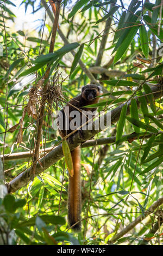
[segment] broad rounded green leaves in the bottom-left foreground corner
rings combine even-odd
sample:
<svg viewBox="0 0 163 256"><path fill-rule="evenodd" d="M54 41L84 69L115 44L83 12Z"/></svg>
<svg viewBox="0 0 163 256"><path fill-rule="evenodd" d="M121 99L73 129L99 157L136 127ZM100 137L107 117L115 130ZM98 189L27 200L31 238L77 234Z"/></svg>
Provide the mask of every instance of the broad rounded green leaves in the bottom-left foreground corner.
<svg viewBox="0 0 163 256"><path fill-rule="evenodd" d="M4 225L4 235L5 233L10 234L14 230L10 244L16 244L20 239L21 244L25 245L55 245L61 241L71 242L72 245L79 244L77 239L65 232L60 231L53 236L48 234L56 225L65 224L65 219L60 216L37 215L32 218L24 218L24 211L18 212L18 209L26 205L26 203L24 199L15 200L13 195L6 195L3 200L0 200L1 223ZM34 231L30 230L31 227L35 228ZM31 239L31 237L33 238Z"/></svg>

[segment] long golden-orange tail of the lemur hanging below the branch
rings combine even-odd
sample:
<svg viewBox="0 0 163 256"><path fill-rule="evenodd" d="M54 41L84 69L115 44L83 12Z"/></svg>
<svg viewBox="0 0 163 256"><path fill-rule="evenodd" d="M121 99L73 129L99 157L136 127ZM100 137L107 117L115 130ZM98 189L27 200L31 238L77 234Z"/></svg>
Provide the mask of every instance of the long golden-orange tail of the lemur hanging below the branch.
<svg viewBox="0 0 163 256"><path fill-rule="evenodd" d="M80 185L80 147L71 151L74 174L69 175L68 188L68 222L70 226L80 221L81 212L81 185ZM72 227L74 232L81 229L81 223L77 223Z"/></svg>

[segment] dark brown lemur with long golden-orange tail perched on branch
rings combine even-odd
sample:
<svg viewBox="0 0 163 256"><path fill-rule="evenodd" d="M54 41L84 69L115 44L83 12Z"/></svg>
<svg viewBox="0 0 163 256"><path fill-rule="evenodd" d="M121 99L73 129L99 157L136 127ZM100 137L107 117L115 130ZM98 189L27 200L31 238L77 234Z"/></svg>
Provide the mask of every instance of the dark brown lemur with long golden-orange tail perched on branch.
<svg viewBox="0 0 163 256"><path fill-rule="evenodd" d="M83 108L84 106L98 103L99 98L96 98L100 94L100 88L96 85L86 85L82 88L82 94L73 98L66 104L68 106L68 115L65 108L61 110L62 113L62 127L59 128L60 135L62 138L70 134L72 129L68 127L65 128L65 114L68 116L68 123L72 118L70 114L72 111L77 111L80 115L80 121L82 120L82 111L95 111L97 108ZM82 123L80 123L81 125ZM79 126L80 126L79 125ZM78 126L78 127L79 127ZM75 128L76 129L76 128ZM83 136L82 130L78 130L80 136ZM70 143L73 143L72 135L68 138ZM69 175L69 186L68 186L68 223L70 226L80 221L80 211L81 211L81 188L80 188L80 147L76 147L71 151L74 175L71 177ZM80 222L72 227L73 231L77 232L81 229Z"/></svg>

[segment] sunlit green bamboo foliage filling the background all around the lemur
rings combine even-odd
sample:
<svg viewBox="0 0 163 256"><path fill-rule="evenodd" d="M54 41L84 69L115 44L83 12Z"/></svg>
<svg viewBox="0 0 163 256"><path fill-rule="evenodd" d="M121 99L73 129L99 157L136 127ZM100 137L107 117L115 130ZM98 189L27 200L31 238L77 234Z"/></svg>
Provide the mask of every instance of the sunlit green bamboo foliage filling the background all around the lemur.
<svg viewBox="0 0 163 256"><path fill-rule="evenodd" d="M5 181L32 164L32 157L22 158L22 152L35 147L42 95L46 94L46 100L40 148L43 152L60 144L61 138L53 129L56 111L76 97L83 85L92 83L88 70L103 91L99 103L89 107L98 107L102 114L111 110L114 122L98 134L98 139L112 139L111 144L97 144L96 150L82 147L80 233L67 229L68 172L64 158L26 186L20 182L19 190L1 199L0 221L14 231L12 244L16 245L106 245L137 217L145 217L146 210L162 197L161 1L62 1L60 30L52 53L49 17L44 28L40 22L39 32L30 28L14 32L10 28L16 17L14 3L4 2L0 14L0 146L1 154L21 154L4 162ZM35 2L22 1L25 11L32 7L34 15L40 9L45 12L43 5L37 7ZM47 67L51 70L45 81ZM47 81L48 91L44 92ZM153 93L156 88L160 92ZM22 142L17 143L20 132ZM40 161L38 165L43 168ZM157 221L156 215L151 212L151 220L145 219L114 243L138 245ZM161 233L160 225L157 234ZM158 245L159 241L162 236L149 244Z"/></svg>

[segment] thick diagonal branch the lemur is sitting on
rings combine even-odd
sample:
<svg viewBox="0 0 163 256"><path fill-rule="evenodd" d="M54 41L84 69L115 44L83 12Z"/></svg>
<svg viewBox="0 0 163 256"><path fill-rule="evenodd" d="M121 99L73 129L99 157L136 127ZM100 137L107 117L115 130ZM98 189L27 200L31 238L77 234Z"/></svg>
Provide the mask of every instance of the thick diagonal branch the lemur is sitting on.
<svg viewBox="0 0 163 256"><path fill-rule="evenodd" d="M161 91L162 86L154 86L151 87L151 90L153 92L154 98L159 98L162 95ZM135 97L137 106L140 106L140 102L137 97ZM147 99L148 100L148 99ZM131 101L129 100L127 103L128 108L127 108L127 115L129 115L129 106L130 106ZM102 118L103 122L106 125L108 117L111 117L111 123L115 123L118 121L120 118L121 110L123 108L123 105L119 105L117 108L114 110L111 110L110 112L107 112ZM89 140L92 138L92 136L95 136L97 133L102 131L102 128L99 127L98 129L95 129L98 127L99 120L95 120L95 122L92 123L92 130L83 130L84 134L84 141ZM70 150L72 151L74 148L82 144L83 140L79 138L78 133L74 134L73 136L73 144L70 144ZM59 145L58 147L54 148L51 152L47 153L45 157L42 157L39 162L36 164L36 170L35 170L35 176L39 175L42 171L46 170L49 168L51 165L57 163L57 161L63 157L63 152L62 152L62 145ZM13 178L9 183L8 183L8 191L9 193L15 192L17 189L20 189L23 186L26 186L27 183L31 180L30 176L30 170L31 168L28 168L27 170L21 172L21 174L17 175L15 178Z"/></svg>

